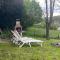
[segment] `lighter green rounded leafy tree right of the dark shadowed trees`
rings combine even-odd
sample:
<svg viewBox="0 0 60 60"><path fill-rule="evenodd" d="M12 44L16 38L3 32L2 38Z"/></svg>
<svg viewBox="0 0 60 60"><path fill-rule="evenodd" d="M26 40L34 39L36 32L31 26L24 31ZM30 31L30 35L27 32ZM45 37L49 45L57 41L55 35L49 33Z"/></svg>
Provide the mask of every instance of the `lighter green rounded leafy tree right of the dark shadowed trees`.
<svg viewBox="0 0 60 60"><path fill-rule="evenodd" d="M24 16L21 20L23 27L28 27L34 23L41 22L42 9L35 0L24 0Z"/></svg>

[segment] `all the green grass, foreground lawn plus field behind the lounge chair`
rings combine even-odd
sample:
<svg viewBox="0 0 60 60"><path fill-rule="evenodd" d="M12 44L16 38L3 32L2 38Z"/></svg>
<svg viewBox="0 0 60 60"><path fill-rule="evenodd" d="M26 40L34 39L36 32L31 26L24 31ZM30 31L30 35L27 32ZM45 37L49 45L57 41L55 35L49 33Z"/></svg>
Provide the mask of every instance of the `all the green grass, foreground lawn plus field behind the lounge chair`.
<svg viewBox="0 0 60 60"><path fill-rule="evenodd" d="M45 40L45 32L42 25L29 27L23 33L24 36L45 41L43 47L34 44L31 48L28 45L19 48L12 43L0 43L0 60L60 60L60 47L51 45L51 43L60 42L60 40ZM56 38L59 33L57 30L50 30L50 37Z"/></svg>

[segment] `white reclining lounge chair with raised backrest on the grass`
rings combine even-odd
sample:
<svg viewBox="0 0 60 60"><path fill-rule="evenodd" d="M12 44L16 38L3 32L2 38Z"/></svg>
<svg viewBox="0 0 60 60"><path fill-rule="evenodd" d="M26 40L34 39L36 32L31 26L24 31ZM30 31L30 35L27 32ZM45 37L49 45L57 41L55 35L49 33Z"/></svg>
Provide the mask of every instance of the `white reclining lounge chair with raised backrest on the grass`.
<svg viewBox="0 0 60 60"><path fill-rule="evenodd" d="M15 37L14 41L16 41L16 43L18 43L18 41L22 42L22 44L19 47L22 47L24 44L29 44L29 46L31 47L31 43L34 43L34 42L40 43L41 47L42 47L43 41L41 41L41 40L36 40L36 39L28 38L28 37L21 37L17 31L15 31L15 32L11 31L11 32L13 33L13 35Z"/></svg>

